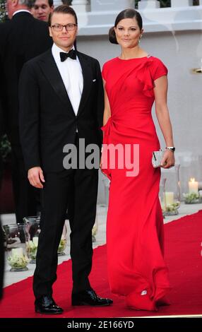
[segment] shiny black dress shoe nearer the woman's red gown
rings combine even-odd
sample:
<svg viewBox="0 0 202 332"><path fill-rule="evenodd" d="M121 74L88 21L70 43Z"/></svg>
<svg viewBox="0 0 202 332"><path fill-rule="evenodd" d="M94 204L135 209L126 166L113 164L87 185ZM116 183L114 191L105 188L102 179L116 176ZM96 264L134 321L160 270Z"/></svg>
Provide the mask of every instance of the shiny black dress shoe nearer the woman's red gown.
<svg viewBox="0 0 202 332"><path fill-rule="evenodd" d="M112 300L98 297L94 290L83 290L82 292L71 295L71 305L92 305L102 307L112 303Z"/></svg>

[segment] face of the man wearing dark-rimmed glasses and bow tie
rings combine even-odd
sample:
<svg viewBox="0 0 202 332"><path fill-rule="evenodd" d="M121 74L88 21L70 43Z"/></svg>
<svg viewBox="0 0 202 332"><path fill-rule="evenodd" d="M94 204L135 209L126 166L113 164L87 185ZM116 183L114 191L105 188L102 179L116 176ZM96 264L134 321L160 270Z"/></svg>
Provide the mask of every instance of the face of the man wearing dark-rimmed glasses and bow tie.
<svg viewBox="0 0 202 332"><path fill-rule="evenodd" d="M66 28L62 28L61 31L54 30L54 25L66 24L69 24L73 30L66 31ZM64 51L68 52L76 40L78 30L74 16L67 13L53 13L51 25L52 27L49 27L49 35L52 37L54 43Z"/></svg>

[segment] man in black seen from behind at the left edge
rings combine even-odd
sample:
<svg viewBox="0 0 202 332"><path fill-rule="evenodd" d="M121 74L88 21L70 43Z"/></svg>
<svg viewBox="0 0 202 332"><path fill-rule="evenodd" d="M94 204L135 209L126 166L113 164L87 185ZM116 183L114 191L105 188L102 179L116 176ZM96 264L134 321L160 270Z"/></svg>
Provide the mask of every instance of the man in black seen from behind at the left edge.
<svg viewBox="0 0 202 332"><path fill-rule="evenodd" d="M7 0L11 20L0 24L1 98L5 110L6 132L11 141L13 161L13 194L16 221L37 213L37 189L28 182L18 126L18 78L26 61L52 46L48 25L32 17L30 0ZM38 193L39 194L39 193ZM37 198L37 199L36 199Z"/></svg>

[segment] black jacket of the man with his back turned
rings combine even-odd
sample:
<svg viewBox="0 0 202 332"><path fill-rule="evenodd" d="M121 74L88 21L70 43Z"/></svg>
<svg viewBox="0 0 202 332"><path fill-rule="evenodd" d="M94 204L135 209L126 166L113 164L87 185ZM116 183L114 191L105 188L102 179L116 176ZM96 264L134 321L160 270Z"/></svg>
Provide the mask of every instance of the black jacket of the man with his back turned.
<svg viewBox="0 0 202 332"><path fill-rule="evenodd" d="M28 12L16 13L0 24L1 100L6 111L7 131L18 141L18 78L26 61L52 46L48 25Z"/></svg>

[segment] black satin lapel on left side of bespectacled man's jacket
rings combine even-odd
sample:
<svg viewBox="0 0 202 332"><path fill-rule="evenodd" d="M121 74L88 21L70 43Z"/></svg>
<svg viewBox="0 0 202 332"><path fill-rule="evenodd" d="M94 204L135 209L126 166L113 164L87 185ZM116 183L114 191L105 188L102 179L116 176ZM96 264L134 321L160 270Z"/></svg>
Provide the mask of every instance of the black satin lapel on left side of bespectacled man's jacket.
<svg viewBox="0 0 202 332"><path fill-rule="evenodd" d="M69 95L66 92L61 75L57 69L57 64L55 63L54 57L52 56L51 49L46 53L46 57L41 60L40 65L44 75L47 77L49 83L51 83L52 88L54 88L54 91L57 93L66 108L70 109L71 113L75 116L71 101L69 100Z"/></svg>

